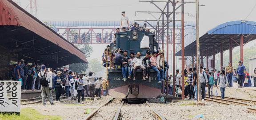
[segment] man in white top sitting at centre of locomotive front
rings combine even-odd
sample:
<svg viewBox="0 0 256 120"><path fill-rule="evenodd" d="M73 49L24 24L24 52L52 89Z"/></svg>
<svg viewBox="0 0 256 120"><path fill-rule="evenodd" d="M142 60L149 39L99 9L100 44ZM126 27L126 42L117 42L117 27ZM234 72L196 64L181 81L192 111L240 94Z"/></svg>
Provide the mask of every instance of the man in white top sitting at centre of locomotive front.
<svg viewBox="0 0 256 120"><path fill-rule="evenodd" d="M144 66L142 66L142 61L145 58L145 56L140 56L140 52L137 52L137 56L136 58L133 59L133 80L136 80L135 76L136 76L136 71L137 69L142 69L142 73L143 73L143 79L142 80L146 80L145 76L146 76L146 68Z"/></svg>

